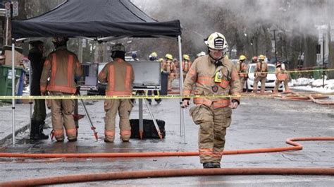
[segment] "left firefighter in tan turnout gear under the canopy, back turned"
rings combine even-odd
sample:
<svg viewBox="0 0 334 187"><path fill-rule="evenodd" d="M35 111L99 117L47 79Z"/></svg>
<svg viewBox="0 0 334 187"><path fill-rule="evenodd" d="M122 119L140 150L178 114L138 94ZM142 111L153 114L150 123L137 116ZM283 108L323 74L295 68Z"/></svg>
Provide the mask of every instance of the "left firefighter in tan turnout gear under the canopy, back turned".
<svg viewBox="0 0 334 187"><path fill-rule="evenodd" d="M78 56L68 51L67 37L54 37L52 41L56 47L44 62L40 81L42 95L49 91L49 95L75 95L77 90L75 78L82 76L82 67ZM49 78L49 82L48 82ZM53 134L57 141L64 140L63 128L69 141L77 140L77 128L73 119L75 107L74 99L50 99Z"/></svg>

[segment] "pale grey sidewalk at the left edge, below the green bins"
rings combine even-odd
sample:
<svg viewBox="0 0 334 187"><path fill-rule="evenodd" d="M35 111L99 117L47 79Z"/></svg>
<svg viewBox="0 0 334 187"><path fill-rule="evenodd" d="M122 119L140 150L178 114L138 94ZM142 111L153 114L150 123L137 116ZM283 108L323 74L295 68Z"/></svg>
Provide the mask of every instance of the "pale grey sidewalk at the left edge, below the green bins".
<svg viewBox="0 0 334 187"><path fill-rule="evenodd" d="M15 134L18 136L30 128L30 104L15 104ZM32 104L32 111L34 110ZM49 112L49 110L47 110ZM11 103L0 102L0 146L12 141L12 114ZM49 116L49 114L47 115Z"/></svg>

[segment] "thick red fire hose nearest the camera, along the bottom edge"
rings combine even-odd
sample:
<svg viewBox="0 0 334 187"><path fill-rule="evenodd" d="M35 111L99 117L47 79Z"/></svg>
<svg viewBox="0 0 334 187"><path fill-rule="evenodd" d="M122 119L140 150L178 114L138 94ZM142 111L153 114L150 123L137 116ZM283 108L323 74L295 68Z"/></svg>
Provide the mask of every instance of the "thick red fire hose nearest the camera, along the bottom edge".
<svg viewBox="0 0 334 187"><path fill-rule="evenodd" d="M77 174L66 176L8 181L0 186L42 186L60 183L83 183L116 179L143 179L175 176L212 175L334 175L334 168L223 168L223 169L164 169L151 171L119 171L99 174Z"/></svg>

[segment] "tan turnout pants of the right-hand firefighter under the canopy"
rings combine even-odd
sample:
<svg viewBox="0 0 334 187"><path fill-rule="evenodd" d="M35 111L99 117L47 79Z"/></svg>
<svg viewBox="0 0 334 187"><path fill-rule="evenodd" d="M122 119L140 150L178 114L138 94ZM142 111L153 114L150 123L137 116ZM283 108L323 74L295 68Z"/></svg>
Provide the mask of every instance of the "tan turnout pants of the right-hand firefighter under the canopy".
<svg viewBox="0 0 334 187"><path fill-rule="evenodd" d="M130 111L132 109L132 103L130 99L106 99L104 101L104 111L106 111L106 117L104 119L104 135L105 139L113 142L115 140L115 123L116 114L120 116L120 138L123 141L128 141L131 135L130 126Z"/></svg>

